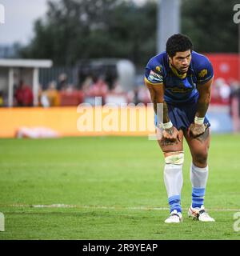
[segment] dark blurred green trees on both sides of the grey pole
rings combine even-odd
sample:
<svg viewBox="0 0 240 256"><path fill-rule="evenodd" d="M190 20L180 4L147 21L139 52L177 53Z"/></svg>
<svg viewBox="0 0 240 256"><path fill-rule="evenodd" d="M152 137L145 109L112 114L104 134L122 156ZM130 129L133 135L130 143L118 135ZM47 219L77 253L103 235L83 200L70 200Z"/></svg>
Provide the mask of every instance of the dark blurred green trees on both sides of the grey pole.
<svg viewBox="0 0 240 256"><path fill-rule="evenodd" d="M129 58L145 66L156 53L157 0L50 0L45 18L34 24L34 38L22 58L51 58L74 65L82 58ZM182 33L199 52L237 52L234 0L182 0Z"/></svg>

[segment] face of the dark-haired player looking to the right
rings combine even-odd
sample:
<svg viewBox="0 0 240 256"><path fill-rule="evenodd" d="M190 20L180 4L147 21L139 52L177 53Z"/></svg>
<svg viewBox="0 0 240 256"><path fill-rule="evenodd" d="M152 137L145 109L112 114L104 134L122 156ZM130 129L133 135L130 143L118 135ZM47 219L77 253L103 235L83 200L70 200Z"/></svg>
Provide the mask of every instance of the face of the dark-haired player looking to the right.
<svg viewBox="0 0 240 256"><path fill-rule="evenodd" d="M179 73L186 73L190 66L191 57L190 50L178 51L173 58L170 58L170 62Z"/></svg>

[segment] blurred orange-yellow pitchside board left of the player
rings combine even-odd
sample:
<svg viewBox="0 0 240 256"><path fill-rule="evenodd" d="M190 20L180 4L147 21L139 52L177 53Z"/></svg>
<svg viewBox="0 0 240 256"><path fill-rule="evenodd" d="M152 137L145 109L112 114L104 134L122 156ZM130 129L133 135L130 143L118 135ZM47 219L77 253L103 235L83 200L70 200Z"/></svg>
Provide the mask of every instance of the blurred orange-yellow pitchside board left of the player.
<svg viewBox="0 0 240 256"><path fill-rule="evenodd" d="M17 137L22 127L43 127L59 136L141 136L154 132L152 106L0 108L0 120L0 138Z"/></svg>

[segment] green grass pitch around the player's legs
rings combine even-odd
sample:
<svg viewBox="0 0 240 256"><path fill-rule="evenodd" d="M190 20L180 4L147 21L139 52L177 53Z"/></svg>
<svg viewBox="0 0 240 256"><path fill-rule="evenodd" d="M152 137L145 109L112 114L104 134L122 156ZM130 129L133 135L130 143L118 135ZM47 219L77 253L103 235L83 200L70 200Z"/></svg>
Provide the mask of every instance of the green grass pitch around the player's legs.
<svg viewBox="0 0 240 256"><path fill-rule="evenodd" d="M166 224L164 161L157 142L144 137L1 139L0 212L6 231L0 240L239 239L234 213L240 211L240 135L212 136L205 206L214 223L186 216L191 200L186 144L185 156L184 219Z"/></svg>

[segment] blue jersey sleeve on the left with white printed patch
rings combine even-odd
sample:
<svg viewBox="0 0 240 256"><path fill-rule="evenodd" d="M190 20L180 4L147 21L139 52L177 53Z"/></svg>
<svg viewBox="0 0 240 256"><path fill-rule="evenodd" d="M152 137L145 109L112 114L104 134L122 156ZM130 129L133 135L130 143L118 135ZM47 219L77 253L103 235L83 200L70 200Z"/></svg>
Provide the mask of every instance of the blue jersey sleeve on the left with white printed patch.
<svg viewBox="0 0 240 256"><path fill-rule="evenodd" d="M162 84L163 82L162 65L154 64L154 61L150 60L150 62L148 62L146 65L145 80L146 82L152 85Z"/></svg>

